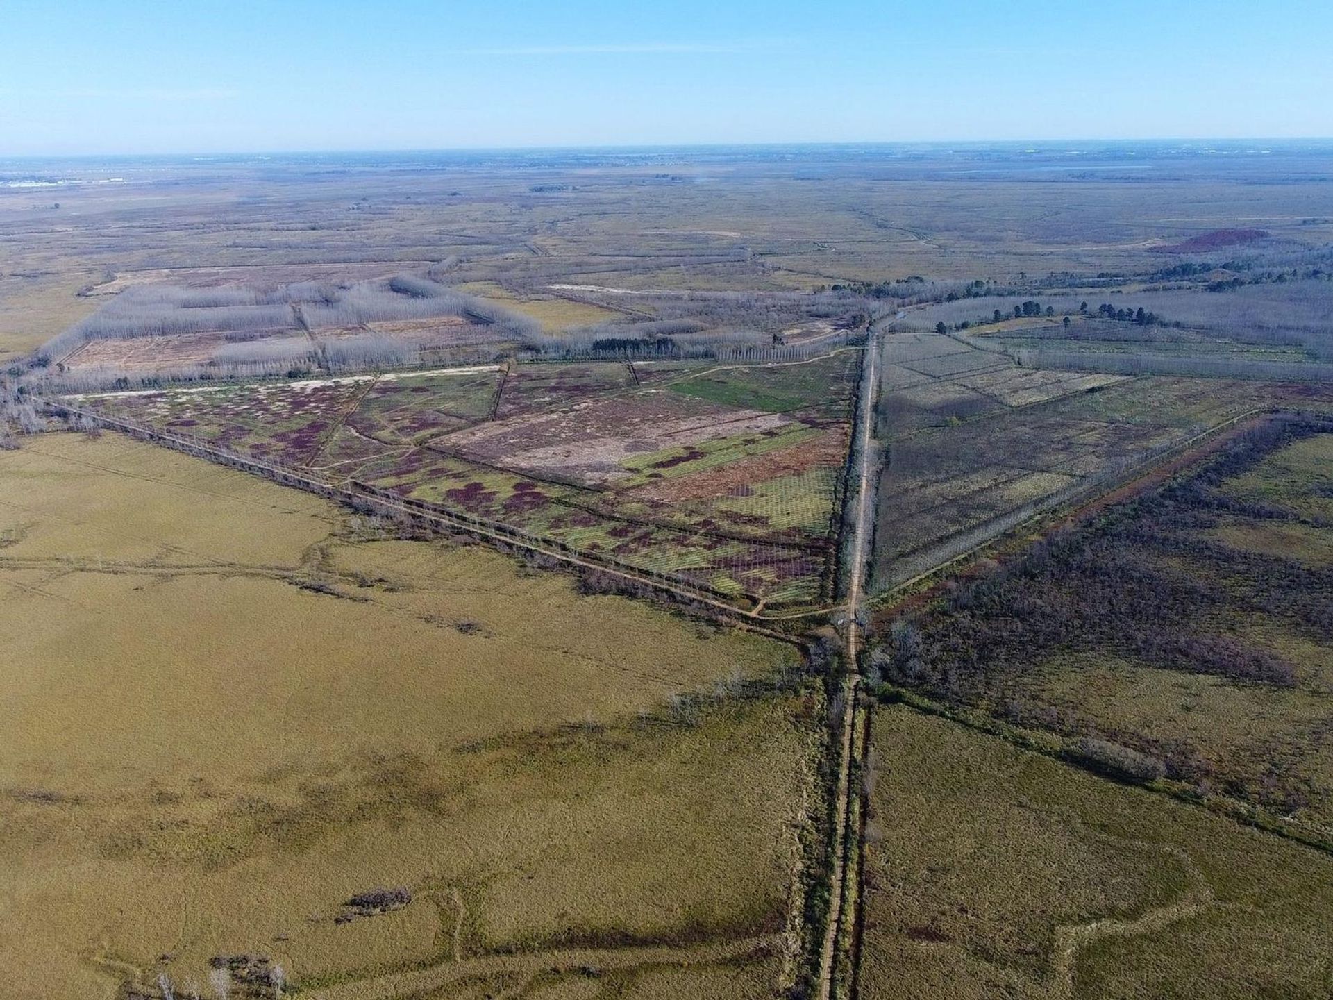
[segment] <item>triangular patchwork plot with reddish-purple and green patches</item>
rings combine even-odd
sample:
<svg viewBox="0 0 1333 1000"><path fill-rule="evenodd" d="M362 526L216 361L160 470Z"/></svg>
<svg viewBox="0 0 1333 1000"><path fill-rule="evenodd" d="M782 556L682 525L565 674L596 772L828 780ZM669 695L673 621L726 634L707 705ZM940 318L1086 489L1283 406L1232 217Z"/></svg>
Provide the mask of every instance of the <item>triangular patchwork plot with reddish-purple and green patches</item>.
<svg viewBox="0 0 1333 1000"><path fill-rule="evenodd" d="M826 595L856 351L524 364L72 401L745 603Z"/></svg>

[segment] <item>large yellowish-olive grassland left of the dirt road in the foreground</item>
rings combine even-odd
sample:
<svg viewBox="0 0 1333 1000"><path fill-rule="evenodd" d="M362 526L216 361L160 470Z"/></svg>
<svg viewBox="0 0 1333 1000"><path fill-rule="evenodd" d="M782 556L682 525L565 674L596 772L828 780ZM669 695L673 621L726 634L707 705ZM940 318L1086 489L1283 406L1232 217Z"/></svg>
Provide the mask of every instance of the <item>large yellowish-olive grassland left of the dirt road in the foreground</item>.
<svg viewBox="0 0 1333 1000"><path fill-rule="evenodd" d="M782 644L115 435L0 453L0 591L5 996L792 975Z"/></svg>

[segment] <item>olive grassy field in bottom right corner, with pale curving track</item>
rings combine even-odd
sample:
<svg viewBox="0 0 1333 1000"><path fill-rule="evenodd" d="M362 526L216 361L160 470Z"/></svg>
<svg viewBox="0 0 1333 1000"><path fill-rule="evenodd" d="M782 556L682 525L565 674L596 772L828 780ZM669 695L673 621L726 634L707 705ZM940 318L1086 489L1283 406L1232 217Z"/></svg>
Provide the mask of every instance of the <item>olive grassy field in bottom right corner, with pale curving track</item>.
<svg viewBox="0 0 1333 1000"><path fill-rule="evenodd" d="M860 995L1325 997L1333 859L876 709Z"/></svg>

